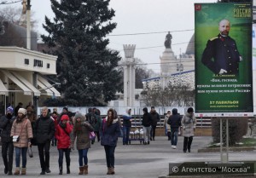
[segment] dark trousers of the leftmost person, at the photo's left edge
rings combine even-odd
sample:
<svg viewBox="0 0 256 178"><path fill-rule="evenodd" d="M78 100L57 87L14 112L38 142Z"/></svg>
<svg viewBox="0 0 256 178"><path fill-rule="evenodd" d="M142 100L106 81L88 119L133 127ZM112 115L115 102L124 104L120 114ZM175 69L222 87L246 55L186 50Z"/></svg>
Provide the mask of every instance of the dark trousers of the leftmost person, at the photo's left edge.
<svg viewBox="0 0 256 178"><path fill-rule="evenodd" d="M8 158L7 158L8 156ZM3 164L8 171L13 169L13 159L14 159L14 143L13 141L2 142L2 157Z"/></svg>

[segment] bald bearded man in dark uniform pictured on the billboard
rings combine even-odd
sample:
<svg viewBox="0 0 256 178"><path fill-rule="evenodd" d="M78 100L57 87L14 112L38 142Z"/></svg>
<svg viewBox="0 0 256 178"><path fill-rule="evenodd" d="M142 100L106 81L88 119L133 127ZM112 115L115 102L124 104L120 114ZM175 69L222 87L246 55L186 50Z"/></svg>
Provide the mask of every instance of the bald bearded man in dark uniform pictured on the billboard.
<svg viewBox="0 0 256 178"><path fill-rule="evenodd" d="M236 41L229 36L230 20L220 20L219 34L207 42L201 62L214 74L235 75L239 73L239 63L242 60L238 52Z"/></svg>

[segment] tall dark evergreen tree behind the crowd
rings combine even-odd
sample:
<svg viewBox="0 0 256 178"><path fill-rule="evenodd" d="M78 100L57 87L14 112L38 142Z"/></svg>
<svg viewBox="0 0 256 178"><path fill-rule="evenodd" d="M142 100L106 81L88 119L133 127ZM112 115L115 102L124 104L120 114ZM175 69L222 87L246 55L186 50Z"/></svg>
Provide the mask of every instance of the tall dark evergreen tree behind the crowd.
<svg viewBox="0 0 256 178"><path fill-rule="evenodd" d="M102 106L120 89L121 59L117 51L107 49L106 36L116 23L110 0L50 0L53 21L45 17L44 43L54 49L61 93L73 106Z"/></svg>

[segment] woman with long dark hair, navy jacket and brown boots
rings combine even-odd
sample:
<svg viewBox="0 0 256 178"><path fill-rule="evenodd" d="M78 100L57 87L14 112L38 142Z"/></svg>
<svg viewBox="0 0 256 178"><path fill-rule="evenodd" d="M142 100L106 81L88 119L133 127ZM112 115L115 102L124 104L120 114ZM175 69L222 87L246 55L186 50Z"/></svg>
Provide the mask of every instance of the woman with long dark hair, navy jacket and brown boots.
<svg viewBox="0 0 256 178"><path fill-rule="evenodd" d="M106 161L108 172L107 175L115 174L114 171L114 150L117 146L117 141L120 132L120 124L117 114L112 108L108 110L107 117L102 121L100 129L101 145L104 146L106 153Z"/></svg>

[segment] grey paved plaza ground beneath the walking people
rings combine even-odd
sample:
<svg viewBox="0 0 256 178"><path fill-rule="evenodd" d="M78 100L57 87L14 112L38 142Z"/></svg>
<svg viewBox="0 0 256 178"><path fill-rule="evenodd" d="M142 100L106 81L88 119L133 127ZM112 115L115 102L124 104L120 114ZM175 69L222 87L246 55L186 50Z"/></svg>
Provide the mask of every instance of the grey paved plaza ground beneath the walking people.
<svg viewBox="0 0 256 178"><path fill-rule="evenodd" d="M105 152L100 143L96 142L91 146L89 158L89 175L78 175L78 151L71 152L71 174L66 174L66 163L64 158L63 175L58 175L58 151L56 146L50 148L50 169L51 173L39 175L41 172L38 149L33 147L34 158L27 157L26 175L22 177L115 177L115 178L157 178L168 174L169 163L180 162L205 162L220 161L219 152L201 152L197 150L206 146L212 141L212 137L196 136L192 143L190 153L183 153L183 137L178 137L177 149L172 149L170 141L167 138L156 137L155 141L151 141L150 145L141 145L139 141L131 141L131 145L123 146L122 140L119 138L119 144L115 151L115 175L106 175L107 166L105 160ZM230 152L230 161L253 161L256 160L256 152ZM15 158L14 158L15 165ZM14 166L15 167L15 166ZM0 177L17 177L17 175L3 174L3 159L0 158Z"/></svg>

